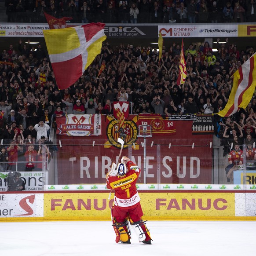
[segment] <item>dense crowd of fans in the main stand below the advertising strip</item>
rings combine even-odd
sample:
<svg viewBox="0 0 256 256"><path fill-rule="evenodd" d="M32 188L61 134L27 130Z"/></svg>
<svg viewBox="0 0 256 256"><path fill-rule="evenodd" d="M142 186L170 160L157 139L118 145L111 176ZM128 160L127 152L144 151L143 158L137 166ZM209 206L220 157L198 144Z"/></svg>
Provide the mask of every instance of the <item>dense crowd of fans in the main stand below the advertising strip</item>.
<svg viewBox="0 0 256 256"><path fill-rule="evenodd" d="M178 85L182 47L187 79ZM213 47L217 51L212 51ZM248 46L238 51L227 38L226 43L219 43L218 39L214 46L208 42L163 46L161 60L158 53L150 46L111 46L105 42L101 54L83 76L69 88L59 90L46 50L39 45L35 51L22 40L10 45L0 55L0 139L4 145L10 145L5 150L8 153L12 143L22 146L24 157L30 143L36 144L33 150L37 151L42 139L44 144L48 142L56 118L66 113L112 114L114 101L130 102L134 114L218 113L229 99L232 75L253 55L254 48ZM106 66L105 70L102 66ZM214 118L224 156L234 149L232 143L241 146L242 139L253 145L256 94L245 109L233 116Z"/></svg>

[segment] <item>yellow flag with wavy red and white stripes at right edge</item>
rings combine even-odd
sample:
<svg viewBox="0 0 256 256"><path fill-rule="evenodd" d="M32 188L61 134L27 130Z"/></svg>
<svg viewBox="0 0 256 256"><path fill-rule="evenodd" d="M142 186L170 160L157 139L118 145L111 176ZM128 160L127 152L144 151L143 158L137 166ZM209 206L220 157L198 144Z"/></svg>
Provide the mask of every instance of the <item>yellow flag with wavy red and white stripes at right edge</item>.
<svg viewBox="0 0 256 256"><path fill-rule="evenodd" d="M233 87L225 108L219 113L221 117L229 117L240 108L246 108L252 99L256 86L256 54L252 55L234 73Z"/></svg>

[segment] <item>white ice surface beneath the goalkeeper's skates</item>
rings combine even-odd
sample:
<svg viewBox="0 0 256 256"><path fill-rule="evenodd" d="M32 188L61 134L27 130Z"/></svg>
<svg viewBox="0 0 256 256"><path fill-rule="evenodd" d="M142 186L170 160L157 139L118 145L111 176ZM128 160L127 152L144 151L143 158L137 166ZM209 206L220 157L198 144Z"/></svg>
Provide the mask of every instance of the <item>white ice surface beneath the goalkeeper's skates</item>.
<svg viewBox="0 0 256 256"><path fill-rule="evenodd" d="M256 252L255 221L148 221L154 241L116 244L110 221L0 223L0 256L233 256Z"/></svg>

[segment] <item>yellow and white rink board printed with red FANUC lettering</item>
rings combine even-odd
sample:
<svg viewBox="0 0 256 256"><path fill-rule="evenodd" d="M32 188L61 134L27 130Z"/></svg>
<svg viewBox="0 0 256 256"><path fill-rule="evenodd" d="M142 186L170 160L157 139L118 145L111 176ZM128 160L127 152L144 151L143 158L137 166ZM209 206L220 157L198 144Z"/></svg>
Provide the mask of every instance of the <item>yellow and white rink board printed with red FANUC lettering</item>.
<svg viewBox="0 0 256 256"><path fill-rule="evenodd" d="M254 190L140 190L144 219L255 220ZM0 194L0 221L109 220L109 191Z"/></svg>

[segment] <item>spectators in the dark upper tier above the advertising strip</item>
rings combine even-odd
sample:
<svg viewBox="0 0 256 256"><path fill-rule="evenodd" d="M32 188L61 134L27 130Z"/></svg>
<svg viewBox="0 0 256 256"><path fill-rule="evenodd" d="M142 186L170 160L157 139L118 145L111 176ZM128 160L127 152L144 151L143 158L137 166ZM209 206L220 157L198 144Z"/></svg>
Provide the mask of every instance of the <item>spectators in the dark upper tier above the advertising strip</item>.
<svg viewBox="0 0 256 256"><path fill-rule="evenodd" d="M7 22L46 22L44 12L88 23L256 22L254 0L5 0Z"/></svg>

